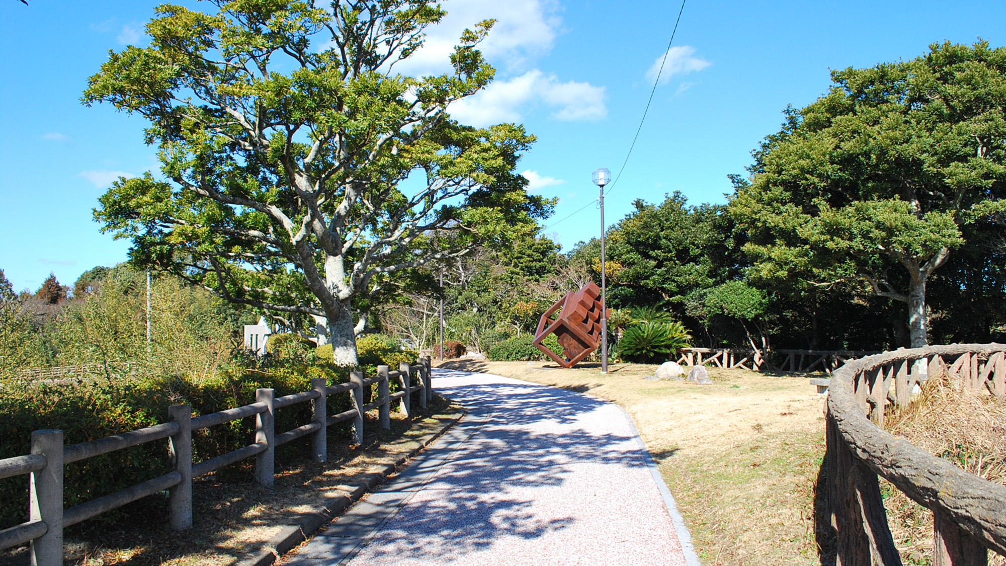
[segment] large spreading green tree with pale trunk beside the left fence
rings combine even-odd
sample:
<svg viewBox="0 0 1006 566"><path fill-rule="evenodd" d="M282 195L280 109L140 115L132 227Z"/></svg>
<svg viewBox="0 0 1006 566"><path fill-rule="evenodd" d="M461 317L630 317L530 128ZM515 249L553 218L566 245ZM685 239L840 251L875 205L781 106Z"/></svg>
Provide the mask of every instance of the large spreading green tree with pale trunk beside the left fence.
<svg viewBox="0 0 1006 566"><path fill-rule="evenodd" d="M416 79L394 65L443 18L439 4L210 3L158 7L150 46L110 53L83 96L148 119L159 148L163 179L120 179L95 213L132 239L134 265L324 318L336 362L352 365L357 303L550 214L514 172L533 136L448 114L493 78L477 49L492 21L464 32L454 73Z"/></svg>

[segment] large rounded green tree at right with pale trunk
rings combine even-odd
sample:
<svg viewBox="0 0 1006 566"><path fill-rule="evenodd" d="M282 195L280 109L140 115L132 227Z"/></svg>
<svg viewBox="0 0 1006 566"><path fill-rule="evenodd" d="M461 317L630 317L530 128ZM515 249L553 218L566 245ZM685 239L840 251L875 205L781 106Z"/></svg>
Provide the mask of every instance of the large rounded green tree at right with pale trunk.
<svg viewBox="0 0 1006 566"><path fill-rule="evenodd" d="M754 153L730 213L756 279L858 278L906 303L910 344L924 345L930 276L962 227L1004 207L1006 48L934 44L832 81Z"/></svg>

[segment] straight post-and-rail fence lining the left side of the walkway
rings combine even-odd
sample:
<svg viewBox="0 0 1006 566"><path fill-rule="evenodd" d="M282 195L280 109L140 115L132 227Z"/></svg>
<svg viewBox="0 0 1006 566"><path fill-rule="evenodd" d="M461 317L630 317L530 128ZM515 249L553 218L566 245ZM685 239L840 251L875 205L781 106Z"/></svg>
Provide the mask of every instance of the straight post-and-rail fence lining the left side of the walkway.
<svg viewBox="0 0 1006 566"><path fill-rule="evenodd" d="M415 385L411 385L412 381ZM397 380L401 390L388 394L390 380ZM377 384L377 399L363 404L363 391ZM78 444L63 445L61 430L36 430L31 433L31 454L0 459L0 479L30 474L29 521L0 531L0 550L30 542L33 566L61 566L63 563L63 529L87 521L108 511L120 508L141 498L168 489L169 525L176 530L192 526L192 479L205 475L239 460L256 458L256 479L271 486L274 480L274 454L277 446L311 435L312 455L315 460L328 459L327 430L330 425L352 420L353 439L363 443L363 414L378 410L381 428L390 428L390 404L398 400L399 410L411 414L411 393L418 395L420 406L427 407L433 398L430 358L418 365L402 363L398 371L389 372L387 366L377 367L377 376L364 378L361 372L350 374L349 383L326 386L324 378L311 380L311 389L285 397L275 397L272 389L256 391L256 402L225 411L192 416L188 405L168 408L169 422L132 430ZM349 393L353 408L329 415L327 398L330 395ZM299 403L312 403L312 421L293 430L276 434L277 409ZM253 444L203 460L192 461L192 431L218 426L246 417L256 418L256 437ZM168 458L172 471L121 489L78 506L63 509L63 465L86 458L122 450L146 442L167 439Z"/></svg>

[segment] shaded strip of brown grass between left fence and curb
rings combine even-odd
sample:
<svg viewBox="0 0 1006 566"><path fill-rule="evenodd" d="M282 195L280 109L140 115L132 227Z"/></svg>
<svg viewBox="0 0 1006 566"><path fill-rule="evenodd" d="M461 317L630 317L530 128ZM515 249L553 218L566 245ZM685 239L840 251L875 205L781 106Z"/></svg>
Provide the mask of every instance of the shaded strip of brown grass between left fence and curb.
<svg viewBox="0 0 1006 566"><path fill-rule="evenodd" d="M329 461L307 459L309 440L286 450L289 465L278 469L276 485L259 486L254 460L244 460L193 484L195 525L175 533L164 525L163 501L151 496L124 508L115 520L103 517L67 530L66 563L74 566L230 565L266 550L266 543L297 516L312 513L323 498L347 493L416 446L422 437L443 430L462 408L441 398L428 414L407 419L392 413L391 429L376 426L376 412L364 425L364 443L350 447L347 435L329 432ZM284 447L281 447L284 448ZM283 463L278 452L277 463ZM26 548L0 553L0 566L28 564Z"/></svg>

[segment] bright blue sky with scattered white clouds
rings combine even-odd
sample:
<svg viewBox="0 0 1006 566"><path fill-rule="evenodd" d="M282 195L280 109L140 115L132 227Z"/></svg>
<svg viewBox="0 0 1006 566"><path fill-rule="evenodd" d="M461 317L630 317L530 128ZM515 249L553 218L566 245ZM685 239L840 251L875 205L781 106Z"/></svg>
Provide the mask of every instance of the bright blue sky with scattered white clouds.
<svg viewBox="0 0 1006 566"><path fill-rule="evenodd" d="M211 6L181 2L195 8ZM0 0L0 269L17 289L48 273L71 284L123 261L127 242L92 221L119 174L156 170L141 118L78 102L109 49L144 44L155 2ZM621 167L680 3L448 0L447 20L403 72L444 68L461 29L496 18L484 45L497 81L453 109L475 125L515 121L538 142L520 163L533 191L557 196L549 223L597 198L591 172ZM680 190L721 202L728 173L776 131L782 110L812 102L829 69L923 54L934 41L1006 44L1006 3L959 1L738 2L688 0L649 116L621 180L606 197L617 222L636 198ZM566 250L600 232L598 210L551 226Z"/></svg>

